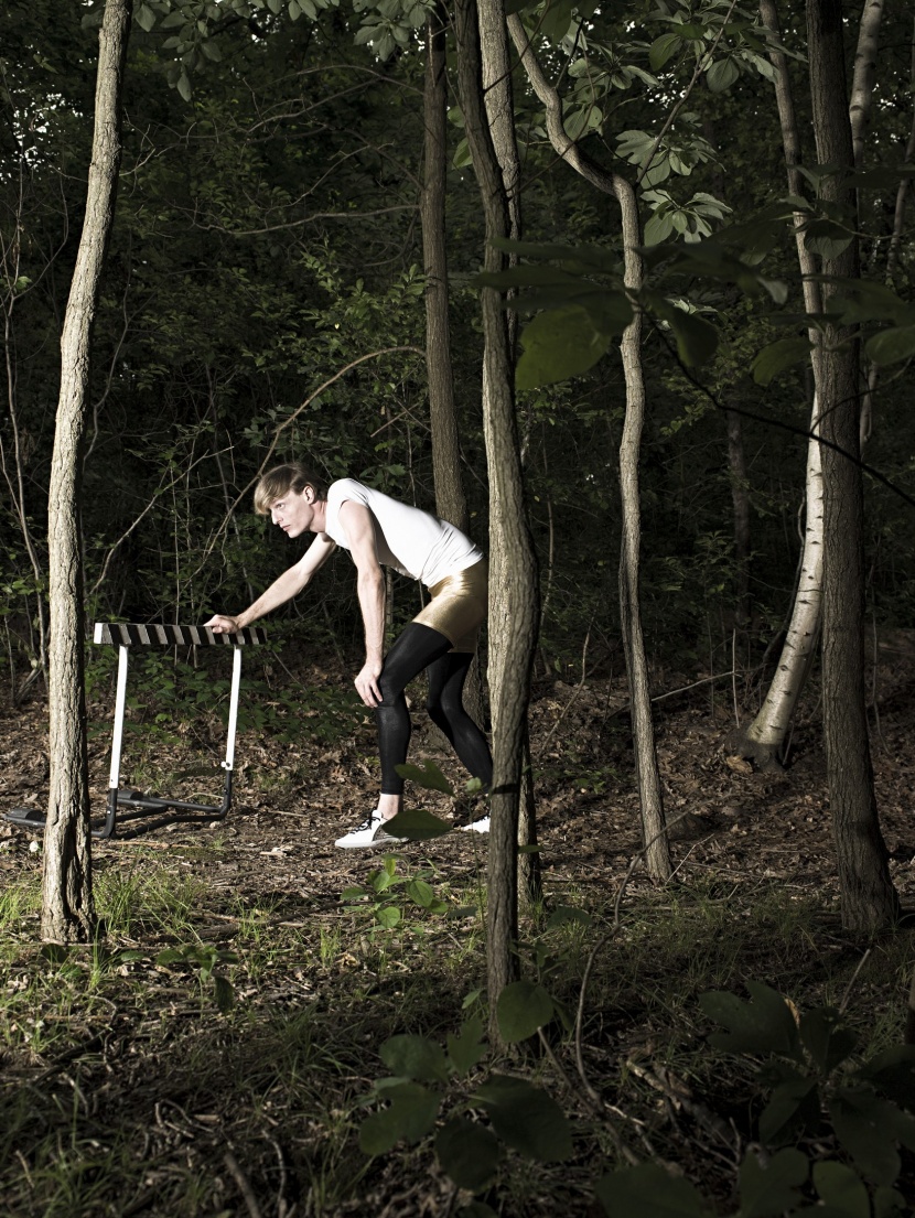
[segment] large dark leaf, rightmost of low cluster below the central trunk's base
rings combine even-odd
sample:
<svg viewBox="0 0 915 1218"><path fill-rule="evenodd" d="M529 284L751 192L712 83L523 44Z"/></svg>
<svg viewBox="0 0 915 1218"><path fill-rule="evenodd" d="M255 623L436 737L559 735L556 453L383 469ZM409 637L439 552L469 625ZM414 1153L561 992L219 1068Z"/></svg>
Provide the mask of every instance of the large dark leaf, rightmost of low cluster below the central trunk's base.
<svg viewBox="0 0 915 1218"><path fill-rule="evenodd" d="M502 1141L541 1163L573 1153L569 1121L546 1091L521 1078L493 1074L472 1097L489 1113Z"/></svg>

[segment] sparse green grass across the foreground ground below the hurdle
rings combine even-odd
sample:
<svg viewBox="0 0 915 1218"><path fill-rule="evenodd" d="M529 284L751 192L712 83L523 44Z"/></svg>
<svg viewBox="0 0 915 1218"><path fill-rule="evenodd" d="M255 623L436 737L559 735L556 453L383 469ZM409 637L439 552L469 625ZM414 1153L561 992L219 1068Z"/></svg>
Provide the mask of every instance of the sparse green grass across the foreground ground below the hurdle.
<svg viewBox="0 0 915 1218"><path fill-rule="evenodd" d="M214 843L213 855L221 849ZM6 1212L244 1216L239 1173L262 1213L380 1213L402 1195L390 1212L407 1216L430 1190L443 1190L443 1212L447 1188L430 1174L428 1141L369 1160L357 1132L372 1082L386 1069L378 1057L384 1040L414 1032L443 1041L462 1021L464 996L482 984L476 878L462 887L433 876L452 914L401 900L405 918L386 932L336 900L302 909L289 894L227 890L190 848L167 860L134 848L124 860L97 862L107 938L94 945L43 951L34 866L0 896ZM725 1196L727 1180L699 1155L684 1112L671 1123L632 1066L673 1072L726 1119L746 1116L749 1073L709 1052L698 995L742 993L746 978L777 984L802 1010L847 995L849 1022L866 1049L878 1049L900 1035L909 940L883 938L859 970L861 952L833 910L786 900L776 884L705 876L664 890L634 888L616 931L614 895L597 885L564 890L562 904L584 910L590 926L573 920L545 929L543 911L531 916L525 973L536 960L574 1011L601 943L585 1002L588 1080L612 1097L619 1135L640 1157L651 1145L687 1174L714 1177L712 1191ZM188 949L186 962L157 963L175 946ZM227 1013L194 962L207 951L235 961L219 966L235 996ZM593 1180L618 1160L608 1129L582 1106L569 1035L556 1024L548 1039L571 1088L536 1057L484 1063L541 1079L579 1129L575 1158L558 1168L508 1153L487 1199L506 1218L592 1212ZM446 1107L459 1099L448 1091L456 1085L446 1086Z"/></svg>

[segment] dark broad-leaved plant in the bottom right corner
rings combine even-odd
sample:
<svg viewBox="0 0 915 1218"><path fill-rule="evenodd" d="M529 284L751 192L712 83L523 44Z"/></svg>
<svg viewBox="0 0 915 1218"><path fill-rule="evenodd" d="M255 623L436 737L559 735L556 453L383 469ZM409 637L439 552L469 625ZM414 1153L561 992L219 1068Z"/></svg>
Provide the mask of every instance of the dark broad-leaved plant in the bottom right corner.
<svg viewBox="0 0 915 1218"><path fill-rule="evenodd" d="M744 1155L733 1218L903 1213L905 1199L894 1184L898 1146L915 1150L915 1047L894 1046L854 1065L858 1038L838 1010L815 1007L797 1018L776 990L759 982L747 982L747 989L749 1002L721 991L699 999L705 1015L727 1028L709 1038L714 1047L761 1058L757 1082L768 1102L759 1139L768 1150ZM813 1139L835 1145L846 1161L814 1161ZM714 1213L688 1180L655 1163L606 1175L597 1195L609 1218Z"/></svg>

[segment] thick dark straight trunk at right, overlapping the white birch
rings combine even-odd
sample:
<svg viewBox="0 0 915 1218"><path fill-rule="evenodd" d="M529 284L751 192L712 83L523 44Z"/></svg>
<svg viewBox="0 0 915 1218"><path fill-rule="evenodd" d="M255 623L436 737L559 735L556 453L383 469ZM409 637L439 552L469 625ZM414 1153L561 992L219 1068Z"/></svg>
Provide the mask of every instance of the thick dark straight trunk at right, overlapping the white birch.
<svg viewBox="0 0 915 1218"><path fill-rule="evenodd" d="M841 0L808 0L808 52L816 156L850 171L852 128L846 105ZM833 174L822 181L827 203L852 208L854 192ZM824 307L830 279L859 276L858 239L824 258ZM867 739L864 685L864 496L858 464L859 345L852 330L827 324L820 346L824 586L822 702L826 769L842 894L842 921L874 932L898 911L880 831Z"/></svg>

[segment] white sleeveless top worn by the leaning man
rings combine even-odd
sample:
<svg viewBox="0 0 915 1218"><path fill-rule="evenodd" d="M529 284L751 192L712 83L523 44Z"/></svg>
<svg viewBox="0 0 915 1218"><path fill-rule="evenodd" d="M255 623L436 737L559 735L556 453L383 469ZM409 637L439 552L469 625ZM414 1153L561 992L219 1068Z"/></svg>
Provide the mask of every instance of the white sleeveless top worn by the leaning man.
<svg viewBox="0 0 915 1218"><path fill-rule="evenodd" d="M331 482L328 490L324 531L344 549L350 549L350 541L340 524L340 508L347 499L362 503L375 519L378 561L401 575L422 580L426 587L465 571L482 558L482 551L447 520L392 499L352 477Z"/></svg>

